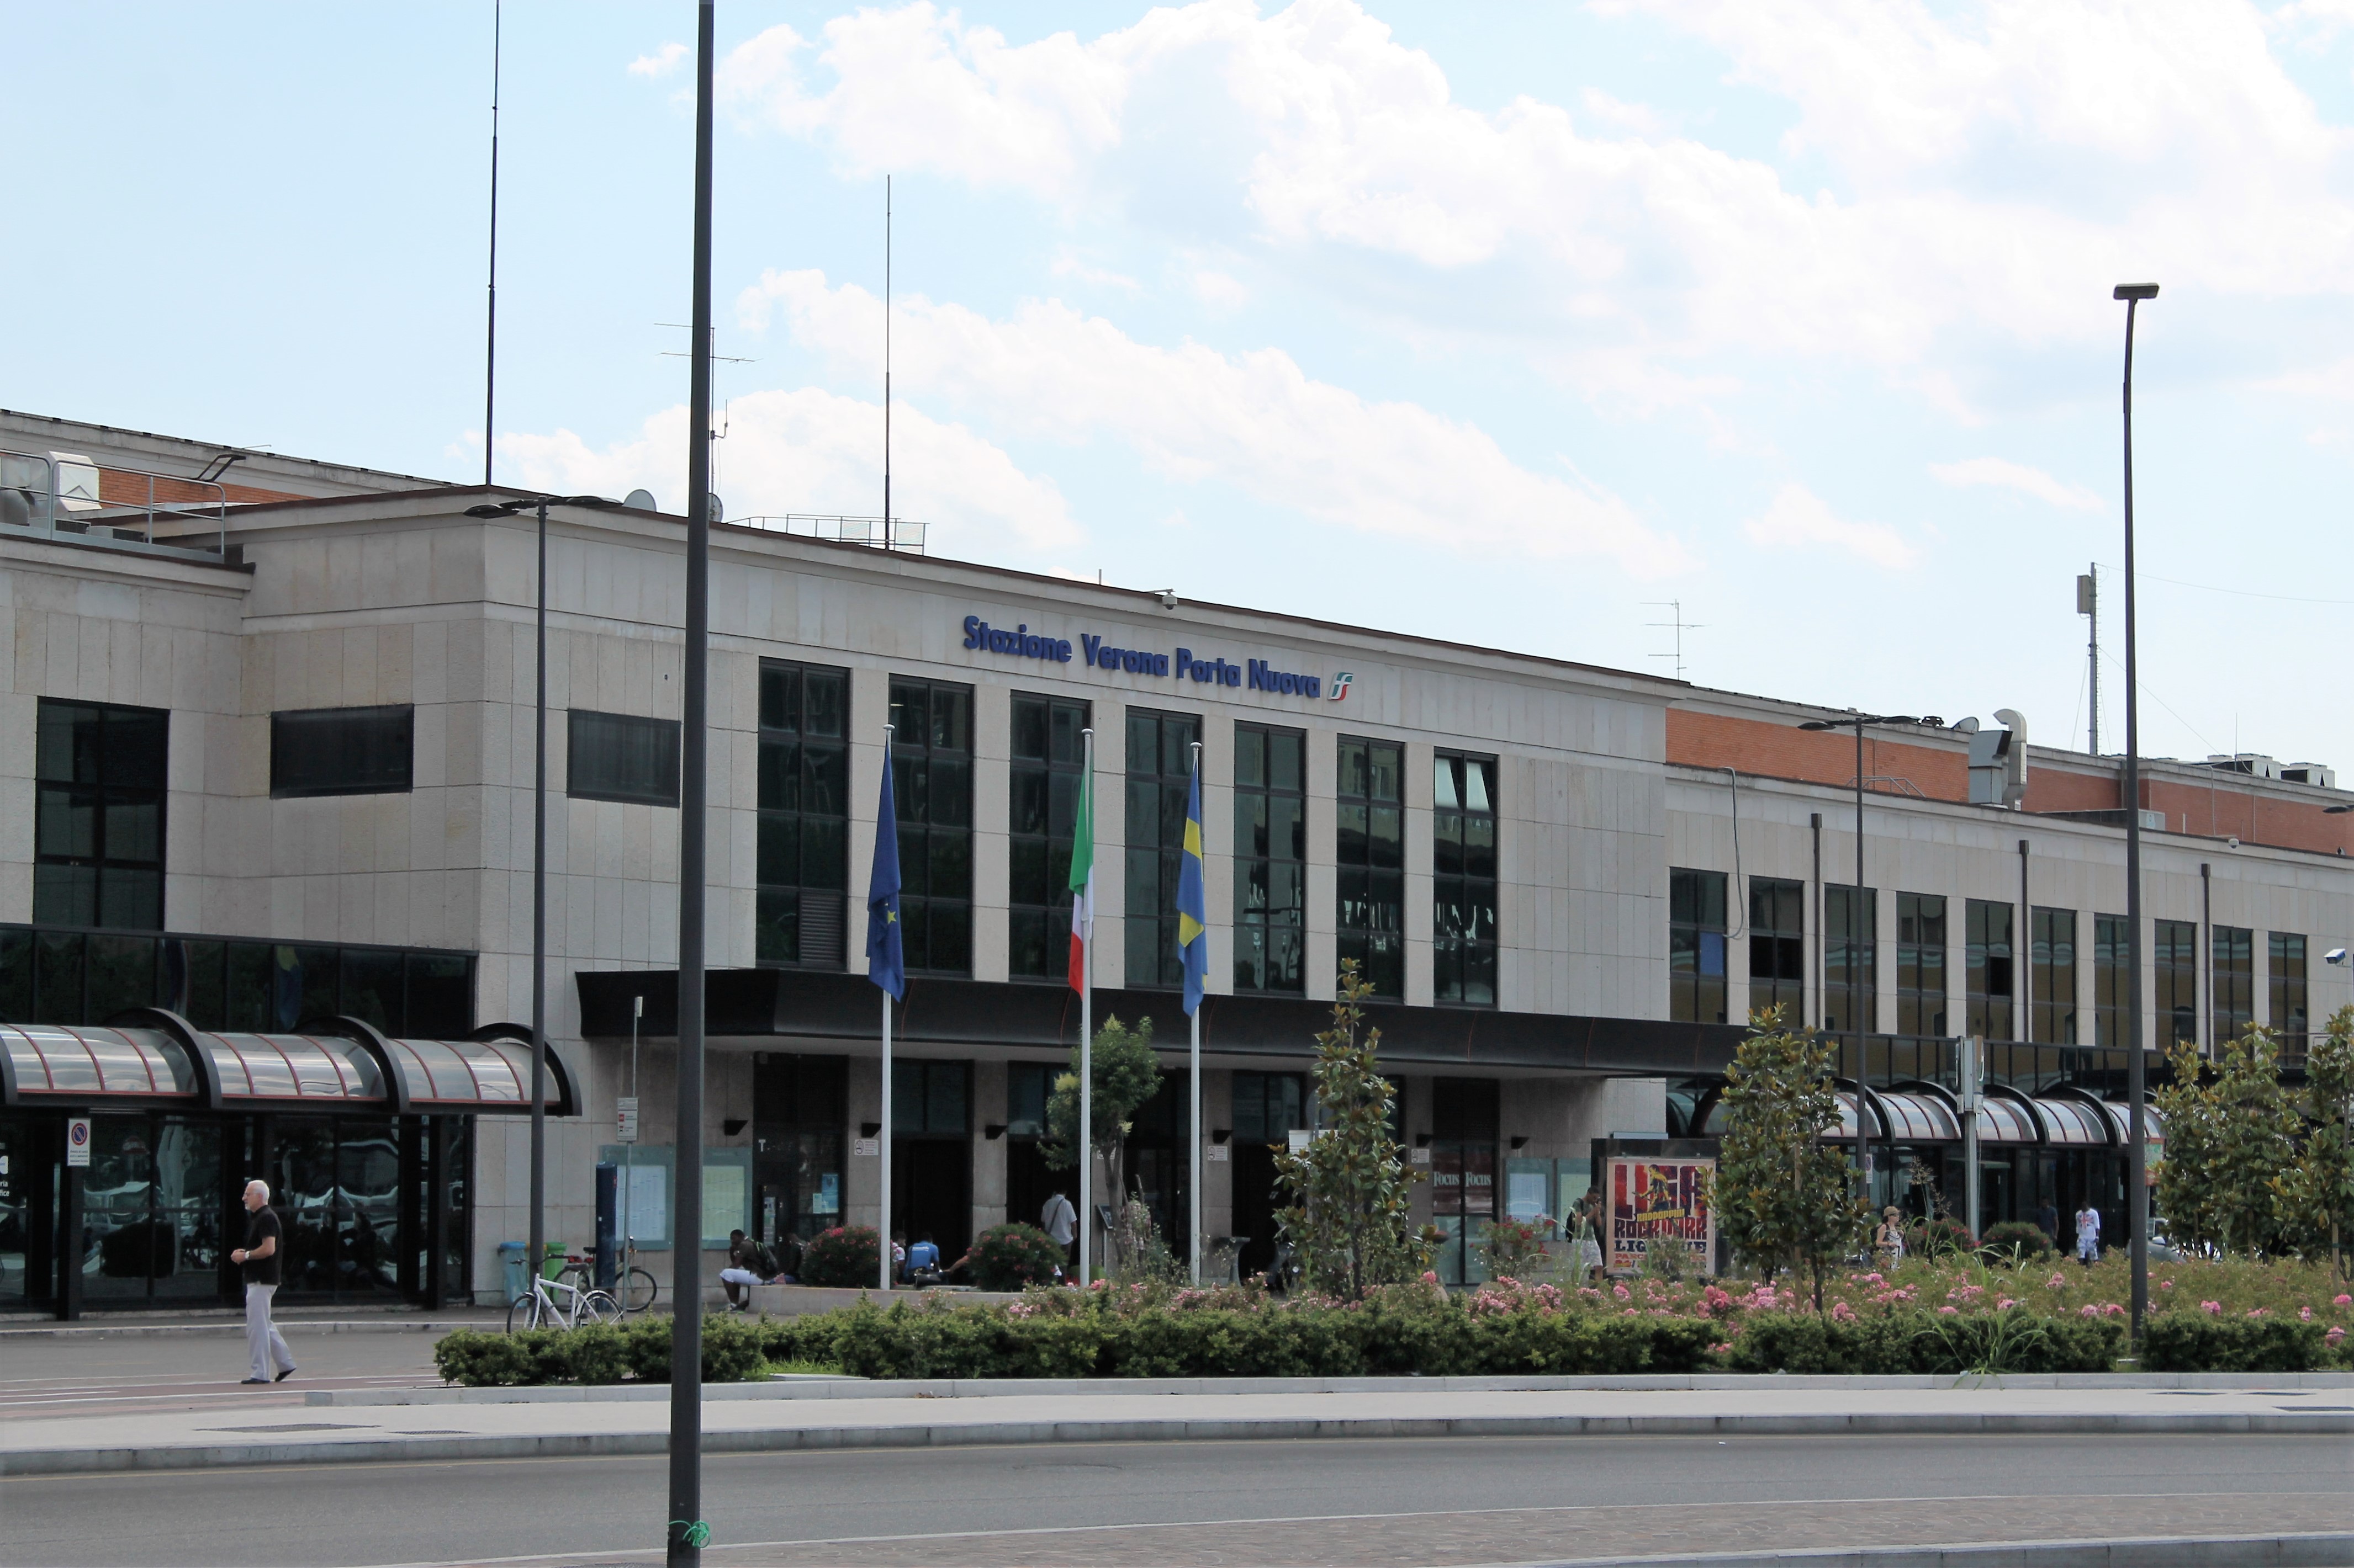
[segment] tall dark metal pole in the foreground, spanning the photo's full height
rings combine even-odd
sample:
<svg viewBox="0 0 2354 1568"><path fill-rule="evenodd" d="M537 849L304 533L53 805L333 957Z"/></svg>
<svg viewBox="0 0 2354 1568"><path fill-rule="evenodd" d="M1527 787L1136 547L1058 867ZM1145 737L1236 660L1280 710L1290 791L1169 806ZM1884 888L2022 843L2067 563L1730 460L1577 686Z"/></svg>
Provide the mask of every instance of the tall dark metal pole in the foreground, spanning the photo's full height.
<svg viewBox="0 0 2354 1568"><path fill-rule="evenodd" d="M671 1217L669 1568L704 1561L704 793L711 678L711 0L694 19L694 318L687 388L687 645L678 756L678 1203Z"/></svg>

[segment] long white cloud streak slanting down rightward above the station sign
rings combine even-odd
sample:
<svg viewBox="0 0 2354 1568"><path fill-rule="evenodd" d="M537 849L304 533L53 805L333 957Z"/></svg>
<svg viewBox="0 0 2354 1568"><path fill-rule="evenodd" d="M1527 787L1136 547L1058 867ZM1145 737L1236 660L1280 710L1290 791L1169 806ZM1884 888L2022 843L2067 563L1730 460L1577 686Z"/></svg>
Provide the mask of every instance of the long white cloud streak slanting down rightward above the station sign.
<svg viewBox="0 0 2354 1568"><path fill-rule="evenodd" d="M836 363L873 358L873 294L814 271L765 273L737 313L765 330L779 306L793 337ZM989 320L923 297L892 301L892 344L913 393L1048 440L1109 436L1156 473L1224 480L1342 527L1495 558L1603 556L1643 577L1690 565L1615 494L1530 473L1474 424L1314 381L1278 348L1158 348L1062 301Z"/></svg>

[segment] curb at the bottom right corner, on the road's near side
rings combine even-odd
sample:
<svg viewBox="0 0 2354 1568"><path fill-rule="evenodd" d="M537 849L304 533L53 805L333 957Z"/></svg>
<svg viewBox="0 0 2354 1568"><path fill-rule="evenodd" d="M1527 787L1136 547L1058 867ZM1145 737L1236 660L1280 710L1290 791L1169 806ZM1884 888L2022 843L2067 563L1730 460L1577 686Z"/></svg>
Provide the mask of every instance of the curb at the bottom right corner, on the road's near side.
<svg viewBox="0 0 2354 1568"><path fill-rule="evenodd" d="M2345 1568L2354 1533L2008 1540L1951 1547L1810 1547L1690 1556L1577 1556L1490 1568Z"/></svg>

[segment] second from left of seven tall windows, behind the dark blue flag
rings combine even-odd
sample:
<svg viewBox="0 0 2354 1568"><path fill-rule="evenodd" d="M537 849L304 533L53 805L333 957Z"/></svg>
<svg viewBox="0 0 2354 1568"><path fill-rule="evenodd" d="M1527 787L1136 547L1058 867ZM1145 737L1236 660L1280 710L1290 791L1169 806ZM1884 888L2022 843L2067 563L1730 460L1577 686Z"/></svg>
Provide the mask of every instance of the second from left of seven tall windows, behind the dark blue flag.
<svg viewBox="0 0 2354 1568"><path fill-rule="evenodd" d="M906 968L972 972L972 687L890 683Z"/></svg>

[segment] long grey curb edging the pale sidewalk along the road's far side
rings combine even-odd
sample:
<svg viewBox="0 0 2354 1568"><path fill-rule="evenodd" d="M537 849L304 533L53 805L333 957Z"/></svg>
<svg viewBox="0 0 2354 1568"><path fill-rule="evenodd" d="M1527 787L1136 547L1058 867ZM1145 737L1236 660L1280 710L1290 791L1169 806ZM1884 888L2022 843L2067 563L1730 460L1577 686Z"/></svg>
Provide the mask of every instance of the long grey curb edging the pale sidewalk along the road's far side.
<svg viewBox="0 0 2354 1568"><path fill-rule="evenodd" d="M1450 1436L1991 1436L1991 1434L2354 1436L2354 1413L2314 1415L1464 1415L1262 1417L1125 1422L944 1422L923 1427L782 1427L706 1431L704 1453L796 1448L972 1448L1008 1443L1165 1443L1262 1439ZM666 1431L358 1439L344 1443L186 1443L35 1448L0 1455L0 1476L64 1476L252 1464L384 1464L398 1460L553 1460L669 1453ZM2333 1566L2335 1568L2335 1566Z"/></svg>

